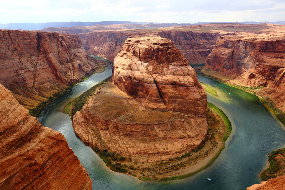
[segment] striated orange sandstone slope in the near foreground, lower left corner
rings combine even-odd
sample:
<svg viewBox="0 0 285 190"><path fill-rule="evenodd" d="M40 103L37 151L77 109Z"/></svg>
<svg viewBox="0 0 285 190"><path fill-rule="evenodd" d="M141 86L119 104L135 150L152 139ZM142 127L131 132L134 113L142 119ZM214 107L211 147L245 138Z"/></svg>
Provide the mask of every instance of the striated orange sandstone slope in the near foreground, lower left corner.
<svg viewBox="0 0 285 190"><path fill-rule="evenodd" d="M64 136L42 126L0 84L0 189L92 189Z"/></svg>

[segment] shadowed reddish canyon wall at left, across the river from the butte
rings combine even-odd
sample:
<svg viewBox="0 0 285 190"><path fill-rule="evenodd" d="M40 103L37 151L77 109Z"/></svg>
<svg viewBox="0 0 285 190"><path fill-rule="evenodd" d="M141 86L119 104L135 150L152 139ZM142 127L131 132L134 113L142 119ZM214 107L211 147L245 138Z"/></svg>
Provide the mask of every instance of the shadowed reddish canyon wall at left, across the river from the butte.
<svg viewBox="0 0 285 190"><path fill-rule="evenodd" d="M0 30L0 62L0 83L18 94L26 108L78 82L98 65L78 36L18 30Z"/></svg>

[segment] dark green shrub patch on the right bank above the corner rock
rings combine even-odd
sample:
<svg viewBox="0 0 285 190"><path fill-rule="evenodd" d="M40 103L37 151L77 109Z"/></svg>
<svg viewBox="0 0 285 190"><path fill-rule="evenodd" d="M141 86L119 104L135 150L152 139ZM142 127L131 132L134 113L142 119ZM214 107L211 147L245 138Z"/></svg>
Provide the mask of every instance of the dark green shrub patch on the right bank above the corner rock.
<svg viewBox="0 0 285 190"><path fill-rule="evenodd" d="M279 154L284 156L284 152L285 152L285 148L282 148L282 149L278 149L278 150L271 152L271 154L268 156L269 167L265 169L260 175L260 178L263 181L267 181L271 177L275 178L278 176L276 174L280 171L281 168L279 165L280 161L276 160L276 156Z"/></svg>

